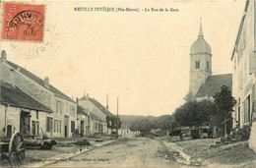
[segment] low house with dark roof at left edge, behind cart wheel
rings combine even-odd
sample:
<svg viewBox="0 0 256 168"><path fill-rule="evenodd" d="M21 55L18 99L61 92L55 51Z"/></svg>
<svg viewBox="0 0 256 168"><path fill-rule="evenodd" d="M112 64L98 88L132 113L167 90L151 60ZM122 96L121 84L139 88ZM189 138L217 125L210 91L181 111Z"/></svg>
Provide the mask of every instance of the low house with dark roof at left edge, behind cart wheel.
<svg viewBox="0 0 256 168"><path fill-rule="evenodd" d="M15 131L24 136L39 136L46 123L40 119L51 116L52 110L33 99L18 87L0 81L0 137L10 138Z"/></svg>

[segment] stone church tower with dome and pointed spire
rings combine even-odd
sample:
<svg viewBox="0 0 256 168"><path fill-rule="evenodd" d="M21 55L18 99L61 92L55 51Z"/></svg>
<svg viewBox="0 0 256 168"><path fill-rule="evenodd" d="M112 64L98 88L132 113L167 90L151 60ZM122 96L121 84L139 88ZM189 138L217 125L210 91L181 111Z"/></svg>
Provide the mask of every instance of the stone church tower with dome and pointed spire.
<svg viewBox="0 0 256 168"><path fill-rule="evenodd" d="M212 49L204 38L201 19L198 38L190 47L189 91L193 97L209 76L212 76Z"/></svg>

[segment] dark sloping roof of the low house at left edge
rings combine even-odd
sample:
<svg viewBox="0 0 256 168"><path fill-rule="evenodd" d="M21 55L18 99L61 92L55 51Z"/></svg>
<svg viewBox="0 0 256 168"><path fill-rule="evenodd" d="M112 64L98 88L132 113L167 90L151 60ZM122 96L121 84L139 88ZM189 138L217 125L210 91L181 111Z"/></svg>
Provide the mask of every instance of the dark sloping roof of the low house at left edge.
<svg viewBox="0 0 256 168"><path fill-rule="evenodd" d="M52 112L48 107L33 99L20 88L1 81L1 101L3 104L28 108L45 112Z"/></svg>

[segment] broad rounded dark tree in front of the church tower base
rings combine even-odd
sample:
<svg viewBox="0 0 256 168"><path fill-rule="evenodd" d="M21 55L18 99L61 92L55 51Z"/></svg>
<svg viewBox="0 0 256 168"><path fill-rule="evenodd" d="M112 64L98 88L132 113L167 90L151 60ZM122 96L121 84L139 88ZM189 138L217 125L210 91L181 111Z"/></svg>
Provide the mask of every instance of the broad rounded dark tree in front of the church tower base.
<svg viewBox="0 0 256 168"><path fill-rule="evenodd" d="M173 116L180 126L202 125L210 121L210 116L216 113L214 102L210 100L187 101L178 107Z"/></svg>

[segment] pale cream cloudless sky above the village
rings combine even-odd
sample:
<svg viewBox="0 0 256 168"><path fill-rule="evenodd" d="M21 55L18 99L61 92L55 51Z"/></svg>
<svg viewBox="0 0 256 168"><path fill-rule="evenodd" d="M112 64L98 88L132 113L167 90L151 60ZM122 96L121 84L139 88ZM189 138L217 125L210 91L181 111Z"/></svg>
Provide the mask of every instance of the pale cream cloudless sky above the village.
<svg viewBox="0 0 256 168"><path fill-rule="evenodd" d="M32 1L45 4L43 42L1 41L7 59L72 98L89 93L119 114L172 114L189 87L189 51L202 17L213 75L231 73L230 56L245 1ZM74 11L74 7L140 12ZM178 12L145 12L178 9ZM142 11L144 10L144 11ZM2 12L1 12L2 13Z"/></svg>

